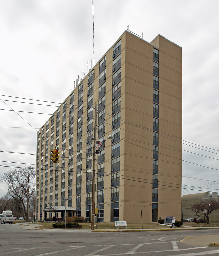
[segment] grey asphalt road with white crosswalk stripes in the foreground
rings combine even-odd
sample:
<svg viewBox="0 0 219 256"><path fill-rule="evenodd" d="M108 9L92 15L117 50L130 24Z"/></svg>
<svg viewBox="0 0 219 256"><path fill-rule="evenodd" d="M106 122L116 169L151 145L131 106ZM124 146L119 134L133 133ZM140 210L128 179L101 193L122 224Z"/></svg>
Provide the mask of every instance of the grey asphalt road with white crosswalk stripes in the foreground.
<svg viewBox="0 0 219 256"><path fill-rule="evenodd" d="M180 242L187 236L218 234L218 230L94 233L85 230L26 230L18 224L2 224L0 234L0 255L9 256L219 255L218 247Z"/></svg>

